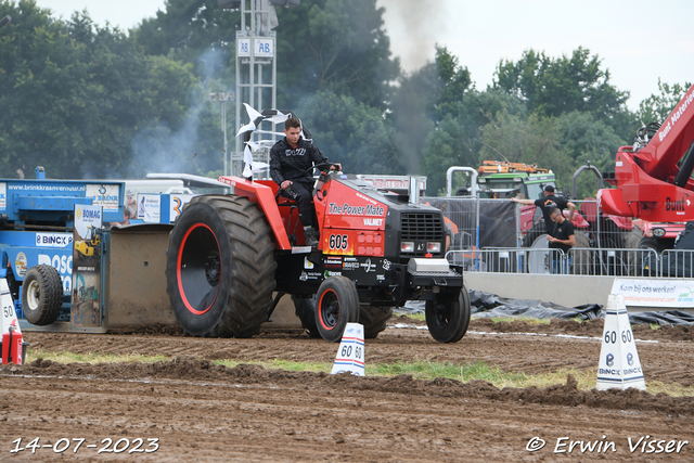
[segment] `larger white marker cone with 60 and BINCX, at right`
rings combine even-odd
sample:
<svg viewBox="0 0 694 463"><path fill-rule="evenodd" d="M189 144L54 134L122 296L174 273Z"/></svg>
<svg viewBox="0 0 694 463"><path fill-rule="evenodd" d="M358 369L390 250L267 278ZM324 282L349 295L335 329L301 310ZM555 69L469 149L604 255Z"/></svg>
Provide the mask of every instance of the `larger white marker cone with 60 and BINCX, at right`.
<svg viewBox="0 0 694 463"><path fill-rule="evenodd" d="M597 390L634 387L645 390L646 383L631 332L625 297L611 294L605 309L603 345L597 366Z"/></svg>

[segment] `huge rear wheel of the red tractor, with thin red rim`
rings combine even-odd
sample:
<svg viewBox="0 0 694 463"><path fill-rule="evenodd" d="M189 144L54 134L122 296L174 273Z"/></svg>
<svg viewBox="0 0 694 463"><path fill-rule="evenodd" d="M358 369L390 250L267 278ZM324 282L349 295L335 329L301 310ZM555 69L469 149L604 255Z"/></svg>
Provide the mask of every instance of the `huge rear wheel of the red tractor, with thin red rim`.
<svg viewBox="0 0 694 463"><path fill-rule="evenodd" d="M272 305L275 268L272 231L255 203L193 197L176 219L166 257L176 320L192 336L257 334Z"/></svg>

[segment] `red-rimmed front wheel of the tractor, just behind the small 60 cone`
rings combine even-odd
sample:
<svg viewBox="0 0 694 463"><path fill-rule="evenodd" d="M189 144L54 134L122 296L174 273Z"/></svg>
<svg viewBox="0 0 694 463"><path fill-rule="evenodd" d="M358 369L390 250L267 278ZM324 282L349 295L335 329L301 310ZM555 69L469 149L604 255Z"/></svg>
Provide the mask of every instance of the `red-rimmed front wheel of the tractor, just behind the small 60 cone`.
<svg viewBox="0 0 694 463"><path fill-rule="evenodd" d="M331 276L318 288L316 326L329 343L342 339L347 323L359 320L359 294L346 276Z"/></svg>

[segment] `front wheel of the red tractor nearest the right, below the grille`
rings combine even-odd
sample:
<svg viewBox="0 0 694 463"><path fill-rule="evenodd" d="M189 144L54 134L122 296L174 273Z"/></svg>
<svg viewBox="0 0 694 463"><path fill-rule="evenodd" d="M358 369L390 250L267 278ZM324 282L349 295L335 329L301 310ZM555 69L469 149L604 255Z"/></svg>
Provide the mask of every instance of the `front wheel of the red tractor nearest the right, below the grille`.
<svg viewBox="0 0 694 463"><path fill-rule="evenodd" d="M439 343L458 343L462 339L470 325L471 313L465 285L459 291L441 291L434 300L427 300L424 308L429 334Z"/></svg>

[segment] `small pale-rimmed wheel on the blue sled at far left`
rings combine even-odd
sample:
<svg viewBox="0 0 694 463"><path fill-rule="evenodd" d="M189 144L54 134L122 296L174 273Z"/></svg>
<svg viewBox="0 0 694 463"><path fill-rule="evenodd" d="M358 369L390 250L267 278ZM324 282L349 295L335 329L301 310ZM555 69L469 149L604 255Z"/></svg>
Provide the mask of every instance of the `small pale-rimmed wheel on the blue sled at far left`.
<svg viewBox="0 0 694 463"><path fill-rule="evenodd" d="M31 267L22 284L22 311L35 325L53 323L61 314L63 283L55 267L44 263Z"/></svg>

